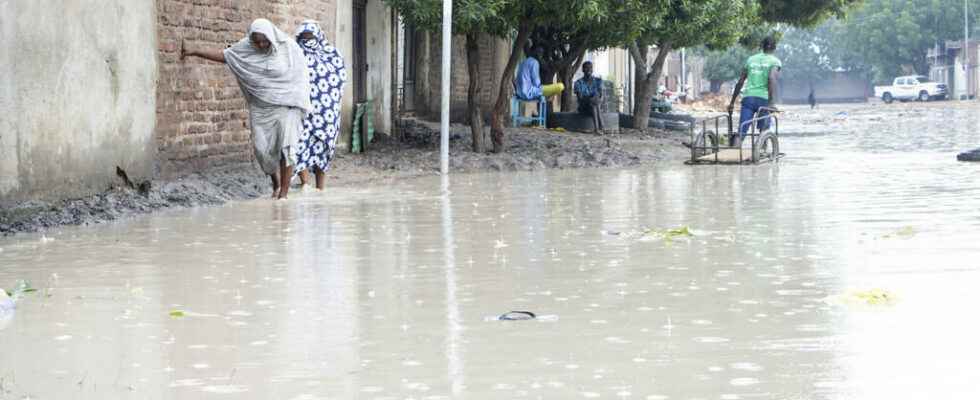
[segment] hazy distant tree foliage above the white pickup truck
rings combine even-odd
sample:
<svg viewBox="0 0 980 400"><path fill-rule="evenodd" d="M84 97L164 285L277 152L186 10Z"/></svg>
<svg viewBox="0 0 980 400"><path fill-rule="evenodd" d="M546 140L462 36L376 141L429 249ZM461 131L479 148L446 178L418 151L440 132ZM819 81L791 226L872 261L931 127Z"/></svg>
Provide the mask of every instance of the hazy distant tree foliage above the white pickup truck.
<svg viewBox="0 0 980 400"><path fill-rule="evenodd" d="M976 25L980 0L969 0ZM866 0L839 27L838 45L860 55L879 82L928 72L926 54L937 43L963 38L961 0Z"/></svg>

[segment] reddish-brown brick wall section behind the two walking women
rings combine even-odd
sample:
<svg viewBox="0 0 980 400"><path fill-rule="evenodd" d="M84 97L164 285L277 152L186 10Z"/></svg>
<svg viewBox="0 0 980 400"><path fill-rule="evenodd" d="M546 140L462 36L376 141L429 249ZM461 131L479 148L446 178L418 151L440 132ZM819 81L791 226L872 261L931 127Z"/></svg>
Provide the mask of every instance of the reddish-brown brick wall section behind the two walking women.
<svg viewBox="0 0 980 400"><path fill-rule="evenodd" d="M156 142L164 175L253 158L248 111L224 65L181 62L181 40L223 49L267 18L292 34L304 19L320 22L332 41L337 0L157 0L159 82Z"/></svg>

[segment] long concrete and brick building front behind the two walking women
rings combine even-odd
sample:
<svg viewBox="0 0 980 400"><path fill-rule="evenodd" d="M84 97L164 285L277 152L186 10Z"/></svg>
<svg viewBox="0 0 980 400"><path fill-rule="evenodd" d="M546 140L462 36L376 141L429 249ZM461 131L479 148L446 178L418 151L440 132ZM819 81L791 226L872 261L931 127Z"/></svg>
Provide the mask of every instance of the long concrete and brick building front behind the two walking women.
<svg viewBox="0 0 980 400"><path fill-rule="evenodd" d="M320 23L345 57L340 148L356 102L394 129L399 29L381 0L0 2L0 206L84 196L118 183L253 158L248 111L226 66L180 59L223 49L255 18L292 34Z"/></svg>

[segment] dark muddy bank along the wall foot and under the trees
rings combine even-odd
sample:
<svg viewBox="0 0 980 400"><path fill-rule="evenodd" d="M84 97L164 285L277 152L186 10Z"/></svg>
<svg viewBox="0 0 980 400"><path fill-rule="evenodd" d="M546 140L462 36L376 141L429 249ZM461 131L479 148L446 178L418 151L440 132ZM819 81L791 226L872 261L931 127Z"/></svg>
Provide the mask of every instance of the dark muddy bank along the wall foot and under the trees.
<svg viewBox="0 0 980 400"><path fill-rule="evenodd" d="M434 123L404 120L402 140L379 136L364 154L339 150L330 186L378 183L434 175L439 168L439 133ZM687 136L666 131L624 130L616 135L511 129L507 151L477 154L470 150L469 128L451 128L450 168L454 173L533 171L542 169L630 167L683 157L680 145ZM489 129L486 129L489 132ZM298 179L294 181L294 185ZM58 202L32 201L0 204L0 235L38 232L67 225L92 225L158 210L215 206L231 200L249 200L269 194L269 178L254 164L224 165L182 176L155 180L140 193L119 186L85 198Z"/></svg>

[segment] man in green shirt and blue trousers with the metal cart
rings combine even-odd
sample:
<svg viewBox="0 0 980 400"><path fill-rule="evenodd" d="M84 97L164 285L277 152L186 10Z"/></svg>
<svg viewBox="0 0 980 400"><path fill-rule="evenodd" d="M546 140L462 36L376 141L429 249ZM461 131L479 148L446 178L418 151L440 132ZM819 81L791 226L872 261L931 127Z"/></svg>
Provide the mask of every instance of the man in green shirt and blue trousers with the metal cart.
<svg viewBox="0 0 980 400"><path fill-rule="evenodd" d="M759 113L759 116L768 116L768 110L776 109L771 103L776 99L776 87L783 63L773 55L775 52L776 39L772 37L763 39L762 53L749 57L742 70L742 77L735 85L732 101L728 104L729 115L735 110L735 100L742 93L742 87L745 87L745 93L742 95L742 113L738 123L738 143L741 143L741 139L749 132L751 125L749 121L755 118L756 113ZM769 129L769 118L759 120L757 126L760 132Z"/></svg>

